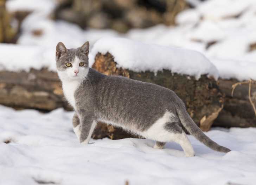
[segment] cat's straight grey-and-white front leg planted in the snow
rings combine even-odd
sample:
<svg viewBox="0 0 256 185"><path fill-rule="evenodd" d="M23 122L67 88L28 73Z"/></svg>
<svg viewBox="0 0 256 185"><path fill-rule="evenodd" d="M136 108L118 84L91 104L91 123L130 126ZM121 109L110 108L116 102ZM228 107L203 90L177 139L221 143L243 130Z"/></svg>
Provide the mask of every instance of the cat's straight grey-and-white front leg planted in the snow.
<svg viewBox="0 0 256 185"><path fill-rule="evenodd" d="M81 144L88 144L96 126L96 121L94 117L91 115L87 116L80 116L80 123L81 123L81 134L79 141Z"/></svg>

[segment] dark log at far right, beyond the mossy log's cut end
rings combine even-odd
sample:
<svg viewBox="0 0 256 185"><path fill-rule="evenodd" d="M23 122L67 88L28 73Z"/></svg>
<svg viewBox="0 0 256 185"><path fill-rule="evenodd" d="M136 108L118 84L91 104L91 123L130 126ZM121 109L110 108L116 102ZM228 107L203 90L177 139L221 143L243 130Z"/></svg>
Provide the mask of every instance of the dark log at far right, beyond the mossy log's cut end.
<svg viewBox="0 0 256 185"><path fill-rule="evenodd" d="M256 127L256 117L248 96L248 84L238 85L231 96L235 79L219 79L219 88L226 95L223 110L213 126L222 127ZM251 99L256 104L256 84L251 85Z"/></svg>

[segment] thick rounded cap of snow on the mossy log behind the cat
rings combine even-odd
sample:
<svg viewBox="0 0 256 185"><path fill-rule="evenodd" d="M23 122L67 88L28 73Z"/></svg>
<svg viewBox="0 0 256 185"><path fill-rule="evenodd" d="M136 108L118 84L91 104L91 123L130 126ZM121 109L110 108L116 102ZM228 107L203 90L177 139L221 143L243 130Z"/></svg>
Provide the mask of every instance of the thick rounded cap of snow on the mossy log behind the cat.
<svg viewBox="0 0 256 185"><path fill-rule="evenodd" d="M102 38L91 50L91 60L100 52L111 53L118 67L133 71L162 71L195 76L203 74L218 78L216 67L201 53L178 47L145 44L124 38Z"/></svg>

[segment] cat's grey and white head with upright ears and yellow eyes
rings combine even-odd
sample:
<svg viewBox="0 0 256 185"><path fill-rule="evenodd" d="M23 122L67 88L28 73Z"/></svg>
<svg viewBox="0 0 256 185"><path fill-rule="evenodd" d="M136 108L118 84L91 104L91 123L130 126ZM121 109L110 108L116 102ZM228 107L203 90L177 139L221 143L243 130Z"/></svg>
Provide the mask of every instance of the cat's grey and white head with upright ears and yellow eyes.
<svg viewBox="0 0 256 185"><path fill-rule="evenodd" d="M67 49L62 42L56 46L56 66L61 80L83 80L89 71L89 42L77 49Z"/></svg>

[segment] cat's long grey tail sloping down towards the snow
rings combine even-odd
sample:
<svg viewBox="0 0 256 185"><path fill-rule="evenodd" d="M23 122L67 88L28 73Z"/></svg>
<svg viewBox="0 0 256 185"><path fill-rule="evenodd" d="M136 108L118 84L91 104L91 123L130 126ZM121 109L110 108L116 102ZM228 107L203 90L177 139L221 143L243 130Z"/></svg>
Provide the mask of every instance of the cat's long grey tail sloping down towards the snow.
<svg viewBox="0 0 256 185"><path fill-rule="evenodd" d="M181 100L180 100L181 101ZM209 137L207 137L204 132L194 123L193 119L187 113L185 105L183 102L177 102L177 113L180 118L181 124L187 129L187 131L194 136L198 141L204 143L206 146L211 148L212 150L218 152L230 152L231 150L225 148L224 146L220 146L214 141L212 141Z"/></svg>

